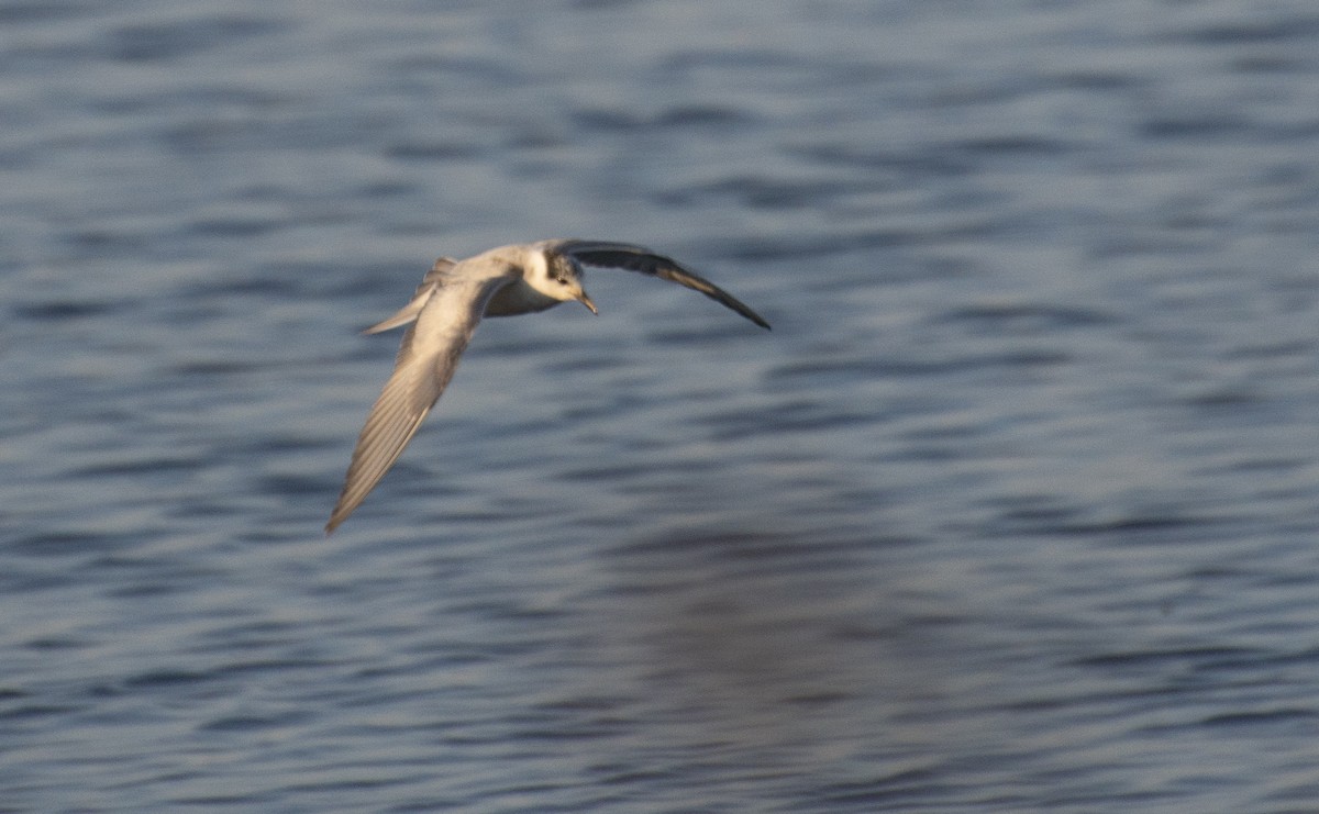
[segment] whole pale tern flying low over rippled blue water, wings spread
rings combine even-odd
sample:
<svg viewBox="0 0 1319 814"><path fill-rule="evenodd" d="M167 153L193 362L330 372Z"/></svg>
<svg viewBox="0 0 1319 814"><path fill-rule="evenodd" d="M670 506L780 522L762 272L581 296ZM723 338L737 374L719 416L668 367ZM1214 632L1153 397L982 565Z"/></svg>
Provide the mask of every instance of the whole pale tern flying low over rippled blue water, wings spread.
<svg viewBox="0 0 1319 814"><path fill-rule="evenodd" d="M483 316L517 316L576 300L599 313L582 287L583 266L625 269L699 291L761 328L769 323L747 304L678 261L624 242L554 238L499 246L470 257L441 257L412 300L363 333L408 325L394 371L357 436L330 535L394 465L439 400Z"/></svg>

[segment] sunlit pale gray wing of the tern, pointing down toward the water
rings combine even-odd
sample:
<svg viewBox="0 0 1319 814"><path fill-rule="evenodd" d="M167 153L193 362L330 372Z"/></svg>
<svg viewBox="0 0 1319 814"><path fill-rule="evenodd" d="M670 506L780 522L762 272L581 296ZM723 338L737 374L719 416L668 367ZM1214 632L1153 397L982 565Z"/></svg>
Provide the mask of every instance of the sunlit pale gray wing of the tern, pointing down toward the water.
<svg viewBox="0 0 1319 814"><path fill-rule="evenodd" d="M448 279L426 295L415 324L404 336L394 373L385 382L357 436L343 491L330 512L326 533L338 528L361 504L402 454L454 378L458 360L480 323L485 303L512 281L504 273Z"/></svg>

